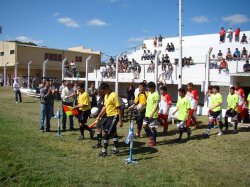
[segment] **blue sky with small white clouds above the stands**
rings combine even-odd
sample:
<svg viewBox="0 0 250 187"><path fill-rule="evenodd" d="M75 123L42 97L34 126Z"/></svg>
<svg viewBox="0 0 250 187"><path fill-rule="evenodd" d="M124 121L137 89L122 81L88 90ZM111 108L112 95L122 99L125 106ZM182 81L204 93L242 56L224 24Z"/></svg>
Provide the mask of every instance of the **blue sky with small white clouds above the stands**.
<svg viewBox="0 0 250 187"><path fill-rule="evenodd" d="M178 0L2 0L0 40L51 48L84 45L109 55L154 35L177 36ZM183 34L250 30L249 0L183 0Z"/></svg>

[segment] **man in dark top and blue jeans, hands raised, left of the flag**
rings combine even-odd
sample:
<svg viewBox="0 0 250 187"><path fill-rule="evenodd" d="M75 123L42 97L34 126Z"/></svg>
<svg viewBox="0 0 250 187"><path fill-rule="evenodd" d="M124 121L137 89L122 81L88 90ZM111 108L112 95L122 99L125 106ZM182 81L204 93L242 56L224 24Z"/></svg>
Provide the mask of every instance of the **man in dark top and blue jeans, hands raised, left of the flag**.
<svg viewBox="0 0 250 187"><path fill-rule="evenodd" d="M40 90L40 130L44 131L44 121L46 119L45 132L50 132L50 119L54 93L55 90L50 88L50 81L46 80L44 87Z"/></svg>

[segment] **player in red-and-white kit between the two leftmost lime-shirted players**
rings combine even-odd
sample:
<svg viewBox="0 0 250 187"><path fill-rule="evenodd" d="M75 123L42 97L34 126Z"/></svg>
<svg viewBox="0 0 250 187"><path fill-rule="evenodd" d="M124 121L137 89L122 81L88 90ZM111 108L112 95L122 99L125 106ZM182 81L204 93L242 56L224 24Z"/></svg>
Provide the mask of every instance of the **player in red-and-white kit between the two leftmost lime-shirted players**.
<svg viewBox="0 0 250 187"><path fill-rule="evenodd" d="M160 87L161 101L159 104L158 122L163 126L163 134L168 132L168 113L172 104L171 96L168 94L167 86Z"/></svg>

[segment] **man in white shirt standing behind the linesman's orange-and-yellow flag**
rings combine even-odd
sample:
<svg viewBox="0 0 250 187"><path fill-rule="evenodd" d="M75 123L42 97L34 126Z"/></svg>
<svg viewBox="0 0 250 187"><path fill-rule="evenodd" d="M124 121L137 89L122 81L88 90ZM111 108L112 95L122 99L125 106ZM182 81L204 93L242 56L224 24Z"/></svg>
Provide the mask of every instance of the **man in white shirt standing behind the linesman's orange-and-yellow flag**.
<svg viewBox="0 0 250 187"><path fill-rule="evenodd" d="M70 82L66 83L66 87L62 89L62 105L67 105L73 107L74 101L75 101L75 92L73 89L73 86ZM62 124L63 124L63 131L66 130L66 121L67 121L67 115L62 107L63 111L63 118L62 118ZM69 125L70 130L74 130L74 122L73 122L73 116L69 116Z"/></svg>

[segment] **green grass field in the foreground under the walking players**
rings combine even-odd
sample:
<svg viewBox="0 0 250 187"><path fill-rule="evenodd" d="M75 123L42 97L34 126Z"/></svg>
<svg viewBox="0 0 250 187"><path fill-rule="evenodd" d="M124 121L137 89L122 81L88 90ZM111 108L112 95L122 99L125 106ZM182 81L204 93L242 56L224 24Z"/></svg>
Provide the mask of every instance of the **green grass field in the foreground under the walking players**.
<svg viewBox="0 0 250 187"><path fill-rule="evenodd" d="M96 142L78 141L78 131L63 137L40 132L38 99L23 94L23 103L15 104L12 89L0 88L0 103L0 186L250 186L249 128L222 137L214 129L206 138L207 118L198 117L201 128L178 144L171 125L156 147L147 147L147 138L136 140L139 164L125 165L128 123L118 129L121 154L99 158L100 150L91 148Z"/></svg>

